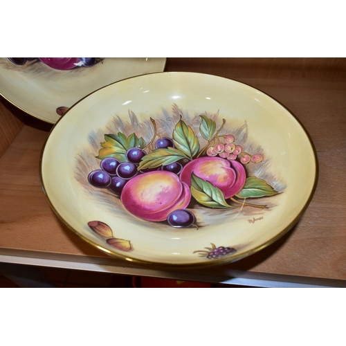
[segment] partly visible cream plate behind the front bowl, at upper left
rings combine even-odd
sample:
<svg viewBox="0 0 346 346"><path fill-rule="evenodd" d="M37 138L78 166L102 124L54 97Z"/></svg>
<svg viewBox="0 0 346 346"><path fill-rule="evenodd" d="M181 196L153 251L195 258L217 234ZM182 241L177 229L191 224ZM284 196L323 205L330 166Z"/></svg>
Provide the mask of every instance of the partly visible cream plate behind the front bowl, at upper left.
<svg viewBox="0 0 346 346"><path fill-rule="evenodd" d="M0 95L31 116L55 124L85 95L124 78L162 72L165 62L145 57L0 57Z"/></svg>

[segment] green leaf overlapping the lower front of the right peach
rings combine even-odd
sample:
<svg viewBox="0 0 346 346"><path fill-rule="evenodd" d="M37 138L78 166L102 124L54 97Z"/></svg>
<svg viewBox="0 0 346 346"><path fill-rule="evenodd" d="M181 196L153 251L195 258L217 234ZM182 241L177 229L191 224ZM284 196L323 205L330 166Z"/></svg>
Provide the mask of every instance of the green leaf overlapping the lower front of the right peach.
<svg viewBox="0 0 346 346"><path fill-rule="evenodd" d="M203 179L196 176L194 173L191 175L191 194L198 203L210 208L234 208L226 203L223 192L212 185L210 181L203 181Z"/></svg>

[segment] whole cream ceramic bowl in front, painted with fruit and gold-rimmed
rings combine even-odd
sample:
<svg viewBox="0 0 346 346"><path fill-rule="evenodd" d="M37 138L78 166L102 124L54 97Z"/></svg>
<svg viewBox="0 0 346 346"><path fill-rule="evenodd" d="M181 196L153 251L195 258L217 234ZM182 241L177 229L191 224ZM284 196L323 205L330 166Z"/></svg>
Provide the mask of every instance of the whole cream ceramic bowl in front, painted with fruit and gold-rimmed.
<svg viewBox="0 0 346 346"><path fill-rule="evenodd" d="M234 262L284 235L318 164L282 104L200 73L153 73L73 106L42 152L62 221L109 255L158 266Z"/></svg>

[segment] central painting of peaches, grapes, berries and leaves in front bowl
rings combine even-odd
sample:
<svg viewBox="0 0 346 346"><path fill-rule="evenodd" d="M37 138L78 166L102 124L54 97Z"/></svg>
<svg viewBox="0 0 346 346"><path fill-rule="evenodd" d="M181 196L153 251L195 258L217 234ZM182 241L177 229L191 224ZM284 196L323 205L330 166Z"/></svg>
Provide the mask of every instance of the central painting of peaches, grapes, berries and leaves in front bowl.
<svg viewBox="0 0 346 346"><path fill-rule="evenodd" d="M172 134L164 136L158 133L156 120L150 122L149 143L135 132L104 134L96 156L100 166L86 176L95 188L118 197L133 217L198 229L196 206L266 208L245 199L278 193L263 179L248 176L246 165L262 162L263 156L244 152L233 134L222 133L226 120L217 129L215 120L200 116L197 135L180 114Z"/></svg>

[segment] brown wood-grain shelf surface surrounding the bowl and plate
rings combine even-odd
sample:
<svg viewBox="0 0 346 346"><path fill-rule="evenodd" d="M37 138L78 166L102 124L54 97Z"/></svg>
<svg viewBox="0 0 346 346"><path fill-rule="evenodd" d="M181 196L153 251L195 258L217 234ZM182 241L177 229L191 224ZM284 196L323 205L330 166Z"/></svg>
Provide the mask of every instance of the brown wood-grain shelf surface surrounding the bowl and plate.
<svg viewBox="0 0 346 346"><path fill-rule="evenodd" d="M346 280L346 62L309 61L297 60L296 65L291 61L286 66L275 59L167 60L166 71L223 75L271 95L302 122L318 154L318 185L298 224L259 253L204 272L232 270ZM304 66L310 67L306 71ZM3 109L0 104L0 119L6 118L10 124L13 115ZM62 225L48 206L39 181L39 157L51 125L30 116L25 122L0 158L0 250L109 258ZM20 125L17 120L13 124L14 129Z"/></svg>

